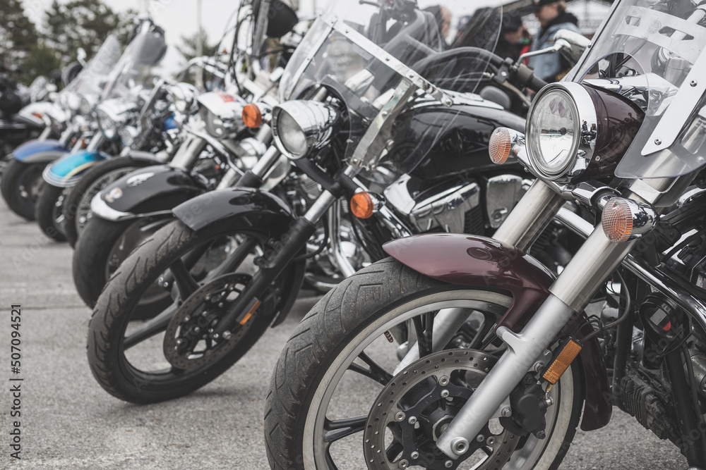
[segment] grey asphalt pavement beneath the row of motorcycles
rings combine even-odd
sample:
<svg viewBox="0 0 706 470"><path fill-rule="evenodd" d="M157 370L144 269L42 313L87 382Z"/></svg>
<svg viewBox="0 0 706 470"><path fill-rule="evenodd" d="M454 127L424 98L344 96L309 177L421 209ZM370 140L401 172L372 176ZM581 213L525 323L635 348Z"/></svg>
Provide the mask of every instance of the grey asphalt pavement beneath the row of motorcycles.
<svg viewBox="0 0 706 470"><path fill-rule="evenodd" d="M269 469L263 400L270 373L289 333L317 298L300 298L282 326L269 330L244 359L201 390L136 406L104 392L88 369L91 312L74 290L71 254L68 245L49 240L0 198L0 469ZM21 306L20 338L15 338L19 373L11 369L13 304ZM13 410L10 390L18 384L20 405ZM10 457L14 421L20 421L20 459ZM578 431L561 465L686 467L674 445L618 410L606 428Z"/></svg>

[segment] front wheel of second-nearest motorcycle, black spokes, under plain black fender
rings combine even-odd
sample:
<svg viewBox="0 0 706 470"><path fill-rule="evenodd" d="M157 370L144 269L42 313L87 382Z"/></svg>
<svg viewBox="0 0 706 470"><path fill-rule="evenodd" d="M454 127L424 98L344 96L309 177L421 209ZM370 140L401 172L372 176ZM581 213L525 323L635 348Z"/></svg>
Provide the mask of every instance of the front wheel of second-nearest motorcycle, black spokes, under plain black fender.
<svg viewBox="0 0 706 470"><path fill-rule="evenodd" d="M213 335L267 249L266 233L227 223L196 233L172 221L145 240L109 280L89 323L88 364L102 388L128 402L160 402L225 372L263 335L281 293L294 283L292 269L285 268L258 295L262 307L227 335ZM140 301L155 283L172 302L140 321Z"/></svg>

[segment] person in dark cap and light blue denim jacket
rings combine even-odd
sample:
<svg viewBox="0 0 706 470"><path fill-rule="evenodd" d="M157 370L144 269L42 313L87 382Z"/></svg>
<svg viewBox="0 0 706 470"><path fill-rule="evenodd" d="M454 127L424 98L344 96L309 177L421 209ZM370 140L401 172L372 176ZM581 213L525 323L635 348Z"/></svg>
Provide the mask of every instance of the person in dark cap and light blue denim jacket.
<svg viewBox="0 0 706 470"><path fill-rule="evenodd" d="M530 6L539 20L539 31L534 35L532 51L545 49L554 44L554 35L558 30L579 32L578 18L566 11L564 0L532 0ZM528 65L534 69L534 75L547 82L556 82L570 67L561 54L544 54L530 58Z"/></svg>

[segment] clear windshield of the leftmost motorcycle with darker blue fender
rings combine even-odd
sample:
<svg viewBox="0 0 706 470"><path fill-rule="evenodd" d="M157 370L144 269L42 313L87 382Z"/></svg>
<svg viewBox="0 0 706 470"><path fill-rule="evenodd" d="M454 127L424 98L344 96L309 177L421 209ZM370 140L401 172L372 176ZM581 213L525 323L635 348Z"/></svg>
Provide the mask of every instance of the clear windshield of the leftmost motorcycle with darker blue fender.
<svg viewBox="0 0 706 470"><path fill-rule="evenodd" d="M103 42L95 56L81 70L76 78L71 80L63 90L61 99L66 101L80 101L81 96L92 95L98 97L105 86L108 75L120 58L120 42L110 35ZM73 97L73 98L72 98ZM78 109L80 103L66 103L71 109Z"/></svg>

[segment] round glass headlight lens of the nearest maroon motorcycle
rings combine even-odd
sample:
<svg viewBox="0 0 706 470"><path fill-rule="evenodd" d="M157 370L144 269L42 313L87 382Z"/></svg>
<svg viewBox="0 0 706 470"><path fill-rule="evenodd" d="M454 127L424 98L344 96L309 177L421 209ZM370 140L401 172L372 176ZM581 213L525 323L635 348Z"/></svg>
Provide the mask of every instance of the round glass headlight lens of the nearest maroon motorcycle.
<svg viewBox="0 0 706 470"><path fill-rule="evenodd" d="M527 142L537 170L548 177L561 175L575 159L580 137L578 109L569 94L563 89L544 94L529 125Z"/></svg>

